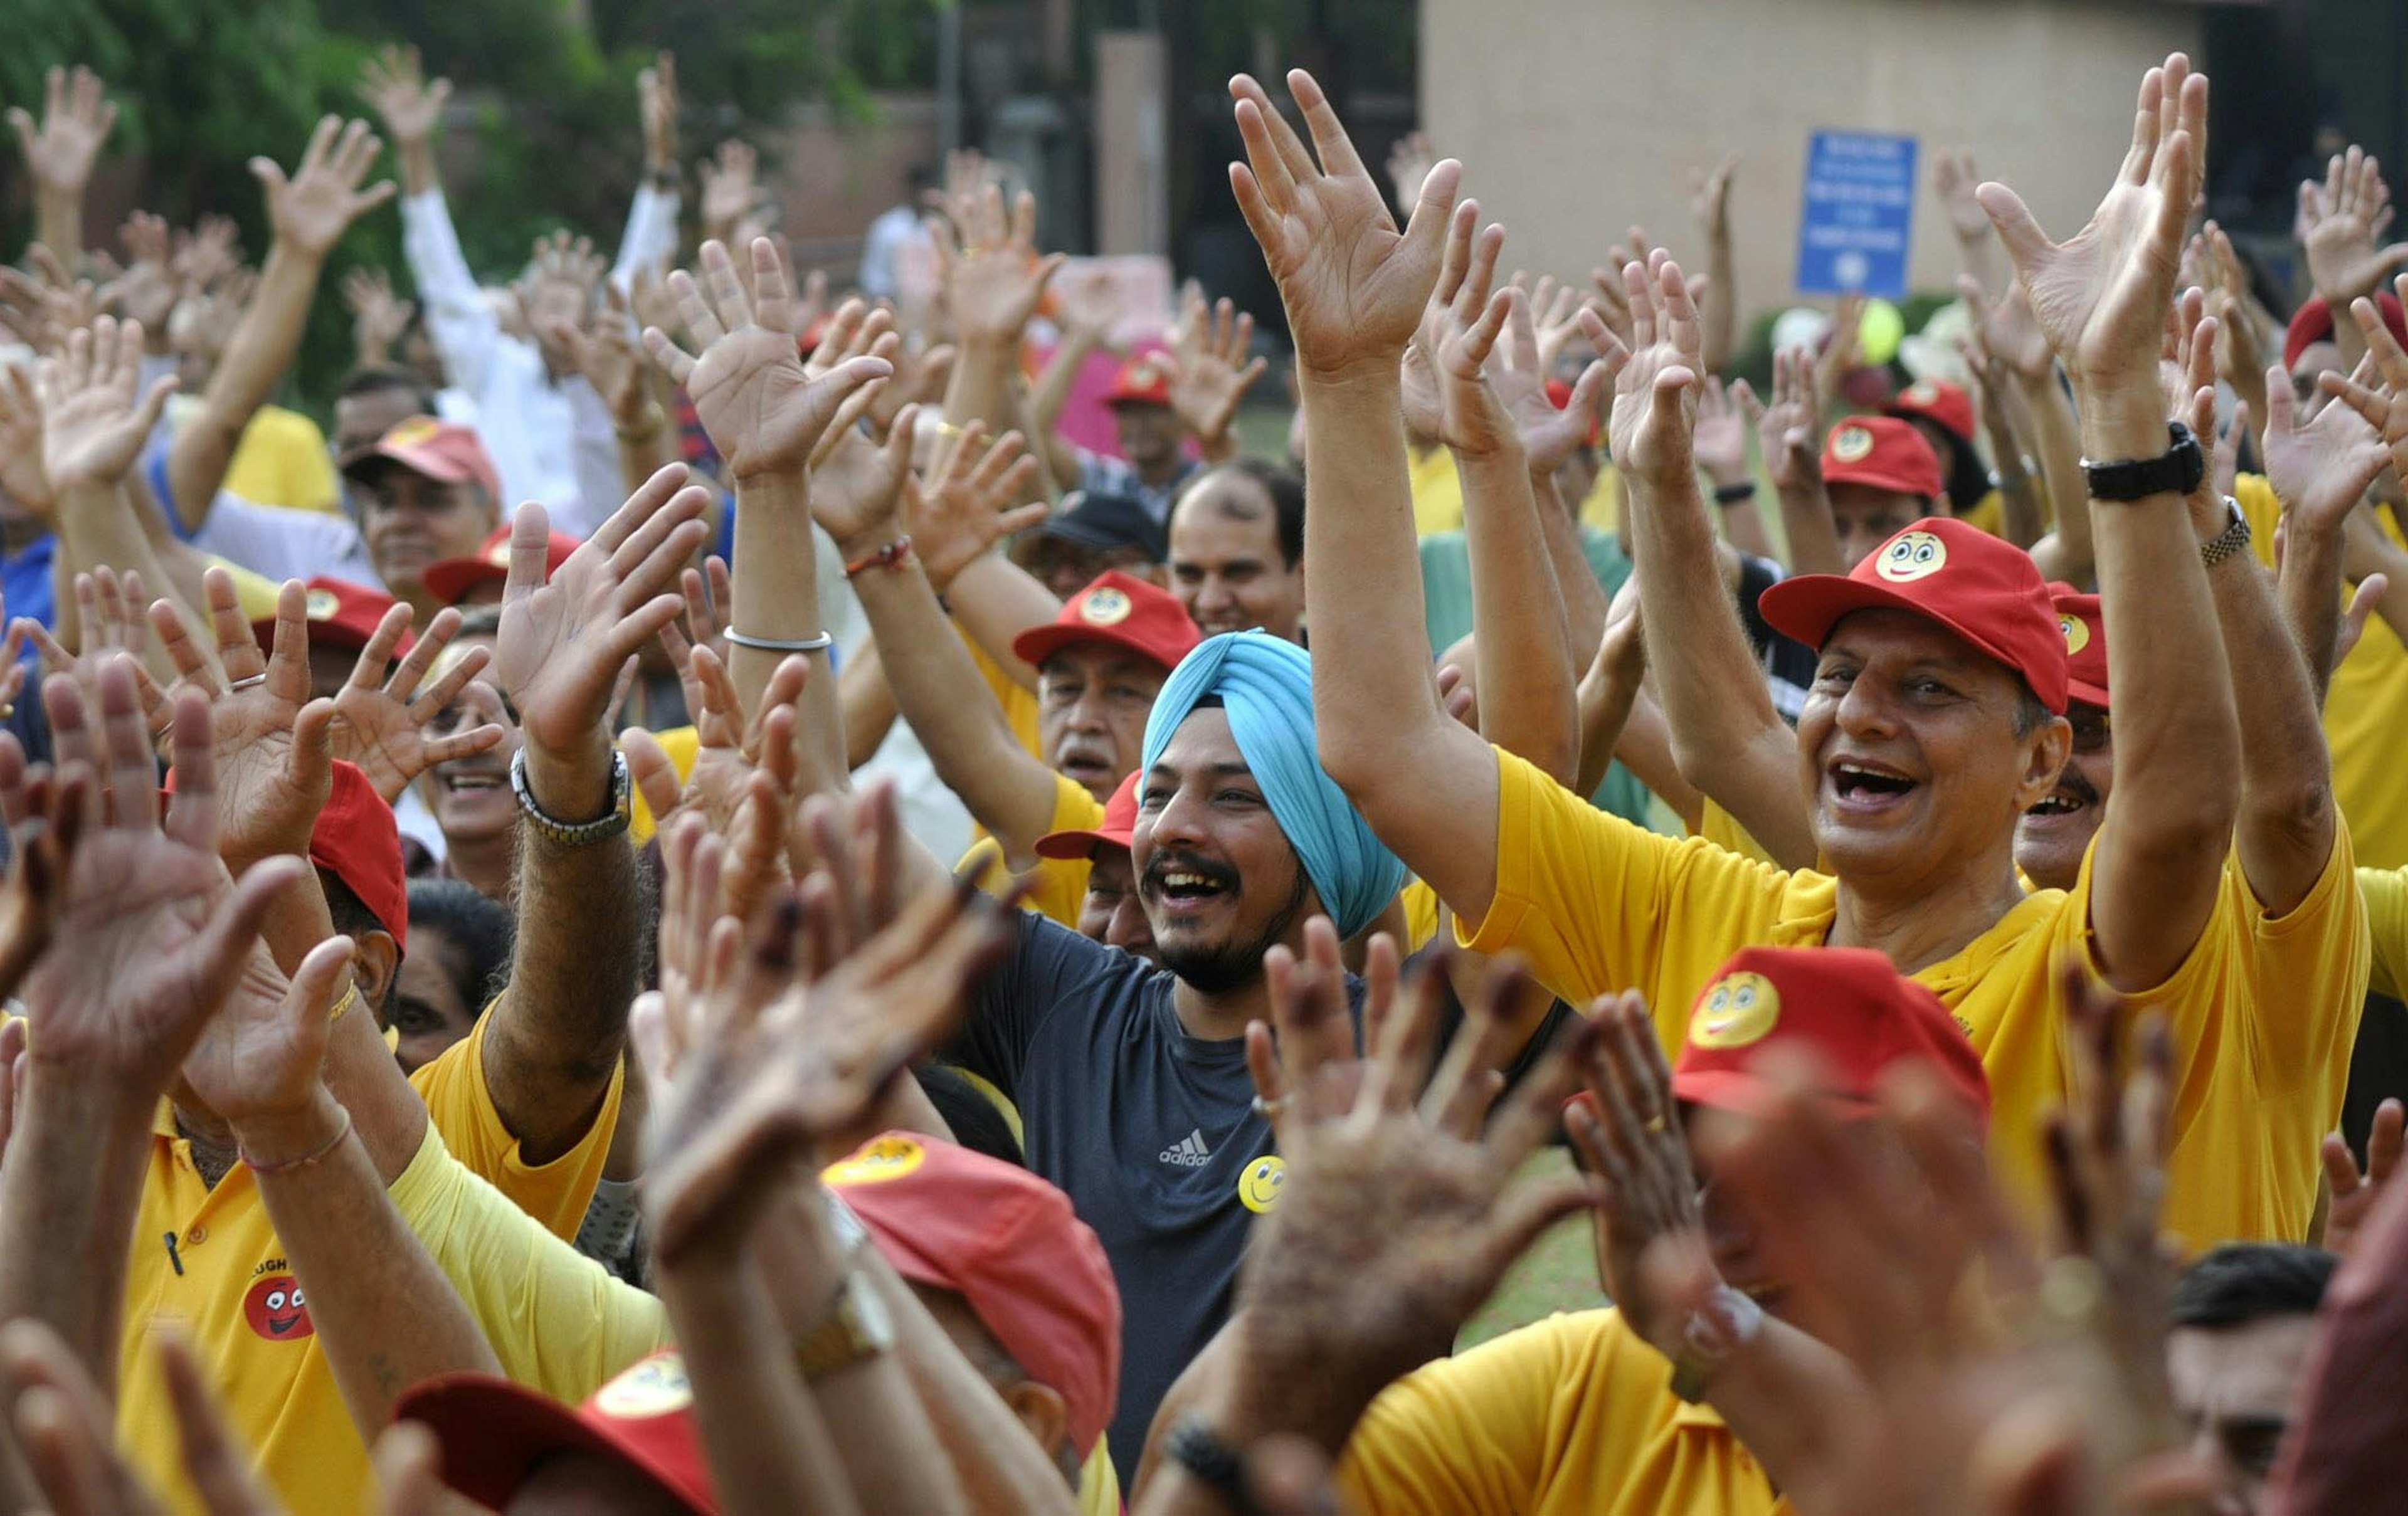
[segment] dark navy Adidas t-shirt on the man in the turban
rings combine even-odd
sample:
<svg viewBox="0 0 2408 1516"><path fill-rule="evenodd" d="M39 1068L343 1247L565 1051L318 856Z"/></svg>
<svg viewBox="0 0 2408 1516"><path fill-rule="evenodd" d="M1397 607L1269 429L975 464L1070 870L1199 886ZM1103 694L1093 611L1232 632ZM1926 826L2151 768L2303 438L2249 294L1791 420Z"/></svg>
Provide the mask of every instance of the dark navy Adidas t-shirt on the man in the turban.
<svg viewBox="0 0 2408 1516"><path fill-rule="evenodd" d="M1245 1040L1190 1037L1173 984L1170 970L1023 912L954 1049L1019 1105L1028 1167L1069 1196L1112 1261L1122 1477L1137 1473L1170 1381L1228 1321L1257 1215L1240 1186L1257 1198L1279 1186Z"/></svg>

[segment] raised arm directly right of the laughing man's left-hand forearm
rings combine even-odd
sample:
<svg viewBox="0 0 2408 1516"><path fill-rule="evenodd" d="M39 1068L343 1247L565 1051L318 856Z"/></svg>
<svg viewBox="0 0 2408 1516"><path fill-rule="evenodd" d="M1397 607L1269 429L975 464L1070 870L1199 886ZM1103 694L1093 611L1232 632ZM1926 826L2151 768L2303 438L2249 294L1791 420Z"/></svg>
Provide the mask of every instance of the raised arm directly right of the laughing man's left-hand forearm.
<svg viewBox="0 0 2408 1516"><path fill-rule="evenodd" d="M1476 224L1479 205L1454 207L1438 286L1404 356L1406 421L1454 452L1464 481L1481 736L1570 782L1580 768L1580 707L1563 597L1539 529L1529 455L1486 373L1507 318L1534 344L1529 296L1500 289L1491 298L1505 229L1474 236ZM1604 378L1584 383L1594 409Z"/></svg>

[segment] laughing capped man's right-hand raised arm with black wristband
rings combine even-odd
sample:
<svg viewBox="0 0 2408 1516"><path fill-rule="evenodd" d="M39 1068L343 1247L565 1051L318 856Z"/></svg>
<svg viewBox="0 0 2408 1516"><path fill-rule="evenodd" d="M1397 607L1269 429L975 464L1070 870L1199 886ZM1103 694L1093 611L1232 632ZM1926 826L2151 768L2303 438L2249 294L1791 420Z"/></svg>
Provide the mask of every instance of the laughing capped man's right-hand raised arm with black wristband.
<svg viewBox="0 0 2408 1516"><path fill-rule="evenodd" d="M2206 123L2208 82L2184 55L2148 70L2124 168L2064 245L2013 190L1982 185L2035 318L2078 375L2083 457L2167 450L2158 354ZM2225 664L2199 657L2220 628L2182 496L2105 501L2090 515L2119 717L2090 926L2107 982L2136 991L2182 965L2215 905L2239 799L2239 727Z"/></svg>

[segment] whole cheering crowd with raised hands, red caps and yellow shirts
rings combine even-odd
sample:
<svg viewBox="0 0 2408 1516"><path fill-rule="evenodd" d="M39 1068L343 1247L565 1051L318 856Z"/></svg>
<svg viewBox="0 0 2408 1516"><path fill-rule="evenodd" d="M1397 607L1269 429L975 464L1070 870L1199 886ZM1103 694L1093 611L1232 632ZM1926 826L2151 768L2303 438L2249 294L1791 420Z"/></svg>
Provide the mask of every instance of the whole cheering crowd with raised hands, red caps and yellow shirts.
<svg viewBox="0 0 2408 1516"><path fill-rule="evenodd" d="M1534 279L1283 87L1286 457L1252 315L1117 349L982 161L862 294L742 142L689 219L667 55L616 260L498 286L409 51L255 267L12 113L10 1511L2398 1502L2374 159L2268 310L2172 55L2068 241L1943 154L1953 351L1760 399L1731 164L1700 272Z"/></svg>

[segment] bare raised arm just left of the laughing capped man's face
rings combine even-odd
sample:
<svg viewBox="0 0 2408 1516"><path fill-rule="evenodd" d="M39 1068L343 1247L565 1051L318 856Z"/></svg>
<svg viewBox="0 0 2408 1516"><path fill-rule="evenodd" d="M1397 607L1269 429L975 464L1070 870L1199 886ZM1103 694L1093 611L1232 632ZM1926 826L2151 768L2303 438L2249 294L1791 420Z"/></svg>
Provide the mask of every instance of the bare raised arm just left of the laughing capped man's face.
<svg viewBox="0 0 2408 1516"><path fill-rule="evenodd" d="M1698 493L1690 448L1698 310L1671 260L1659 257L1652 272L1628 265L1623 289L1640 349L1613 387L1611 440L1630 486L1640 609L1674 760L1765 847L1780 857L1804 847L1811 857L1813 842L1801 845L1796 736L1772 710ZM1808 385L1804 361L1792 363L1792 375Z"/></svg>

